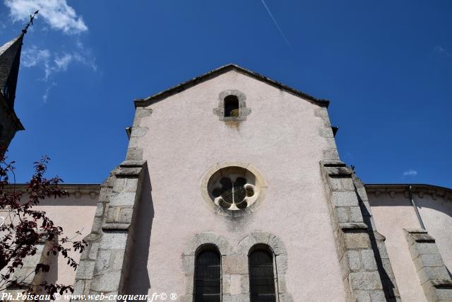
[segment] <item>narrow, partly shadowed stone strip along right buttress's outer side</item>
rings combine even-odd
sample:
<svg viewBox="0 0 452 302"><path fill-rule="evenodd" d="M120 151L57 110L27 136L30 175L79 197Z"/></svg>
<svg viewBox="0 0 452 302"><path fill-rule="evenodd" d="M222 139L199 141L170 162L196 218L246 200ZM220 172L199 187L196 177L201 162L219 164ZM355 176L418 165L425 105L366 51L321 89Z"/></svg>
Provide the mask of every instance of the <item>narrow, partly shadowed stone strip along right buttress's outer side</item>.
<svg viewBox="0 0 452 302"><path fill-rule="evenodd" d="M364 223L366 223L371 240L372 250L374 251L376 266L380 274L381 282L383 284L383 291L387 301L401 301L396 277L394 276L391 261L389 260L388 252L386 250L386 238L376 230L374 217L371 213L369 199L364 187L364 183L357 177L355 173L352 174L353 185L359 201L359 211L362 214ZM353 219L352 215L352 219Z"/></svg>

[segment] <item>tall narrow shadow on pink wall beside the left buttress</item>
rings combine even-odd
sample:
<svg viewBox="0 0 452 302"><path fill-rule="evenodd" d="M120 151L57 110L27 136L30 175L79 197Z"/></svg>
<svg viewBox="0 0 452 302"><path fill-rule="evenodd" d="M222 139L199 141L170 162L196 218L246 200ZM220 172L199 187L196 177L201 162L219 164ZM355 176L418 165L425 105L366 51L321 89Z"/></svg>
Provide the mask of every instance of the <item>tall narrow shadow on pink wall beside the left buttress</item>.
<svg viewBox="0 0 452 302"><path fill-rule="evenodd" d="M143 171L143 185L141 188L141 201L138 206L138 216L136 218L135 241L131 253L131 266L129 269L129 286L127 294L147 295L150 289L148 273L148 256L150 245L150 233L153 226L154 206L152 197L152 187L148 166Z"/></svg>

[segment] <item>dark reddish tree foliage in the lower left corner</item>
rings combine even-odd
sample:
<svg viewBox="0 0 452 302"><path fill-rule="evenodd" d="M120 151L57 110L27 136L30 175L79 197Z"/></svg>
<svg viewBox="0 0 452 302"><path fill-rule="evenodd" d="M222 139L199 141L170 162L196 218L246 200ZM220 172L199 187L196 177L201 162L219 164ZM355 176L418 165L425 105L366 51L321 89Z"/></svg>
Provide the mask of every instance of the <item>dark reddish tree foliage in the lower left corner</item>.
<svg viewBox="0 0 452 302"><path fill-rule="evenodd" d="M14 162L7 163L6 156L0 152L0 291L14 287L26 292L45 291L47 294L73 291L72 286L63 284L49 284L42 281L41 284L32 284L30 275L48 272L47 263L36 265L34 272L28 276L15 277L14 272L23 267L25 257L35 255L38 242L49 241L47 255L62 255L67 260L67 265L76 269L78 264L69 252L71 248L82 252L87 245L85 240L74 240L81 233L77 232L74 238L64 236L63 228L55 226L47 217L45 211L37 211L35 206L44 198L66 197L69 195L61 190L59 184L62 180L58 177L44 178L49 157L44 156L34 163L34 173L22 191L16 190L18 186L10 183L10 177L14 176ZM2 219L2 220L3 220ZM46 245L47 246L47 245ZM71 246L71 248L68 248ZM32 279L32 278L31 278Z"/></svg>

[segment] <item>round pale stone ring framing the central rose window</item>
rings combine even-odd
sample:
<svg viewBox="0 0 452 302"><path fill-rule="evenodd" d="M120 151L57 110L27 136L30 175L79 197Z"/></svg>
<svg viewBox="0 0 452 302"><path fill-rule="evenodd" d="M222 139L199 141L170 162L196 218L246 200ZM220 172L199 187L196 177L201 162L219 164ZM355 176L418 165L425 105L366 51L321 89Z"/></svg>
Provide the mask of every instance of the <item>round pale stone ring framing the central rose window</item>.
<svg viewBox="0 0 452 302"><path fill-rule="evenodd" d="M249 207L246 207L245 209L240 210L228 210L223 209L222 207L218 206L214 203L214 201L210 198L209 192L208 192L208 182L210 178L217 173L219 170L223 168L232 168L232 167L238 167L238 168L244 168L248 170L250 173L254 175L256 178L256 187L258 187L258 196L256 200L251 204ZM225 163L217 163L212 168L207 170L207 172L203 175L203 178L201 179L201 195L204 199L204 202L206 202L206 205L209 209L214 211L216 214L220 214L223 216L231 216L231 217L241 217L245 216L247 214L251 214L252 212L256 211L258 207L260 207L261 203L263 202L263 199L266 197L268 189L268 182L263 177L263 174L261 173L258 168L256 168L254 165L251 165L251 163L242 163L242 162L225 162Z"/></svg>

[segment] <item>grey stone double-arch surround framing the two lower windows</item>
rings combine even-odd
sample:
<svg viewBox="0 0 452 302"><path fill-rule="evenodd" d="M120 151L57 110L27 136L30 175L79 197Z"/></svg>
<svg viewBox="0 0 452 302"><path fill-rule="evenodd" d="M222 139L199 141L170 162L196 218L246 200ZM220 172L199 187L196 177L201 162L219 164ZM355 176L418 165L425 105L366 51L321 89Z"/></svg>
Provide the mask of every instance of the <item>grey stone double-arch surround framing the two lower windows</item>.
<svg viewBox="0 0 452 302"><path fill-rule="evenodd" d="M284 243L275 235L256 231L240 240L237 248L225 236L215 233L199 233L186 244L182 254L182 271L185 274L186 294L178 301L192 302L194 294L194 271L196 250L202 245L215 245L221 255L222 301L249 301L248 253L256 244L268 245L275 254L275 277L278 277L277 292L279 302L293 302L287 292L285 273L287 272L287 251Z"/></svg>

